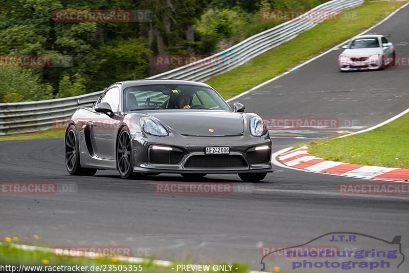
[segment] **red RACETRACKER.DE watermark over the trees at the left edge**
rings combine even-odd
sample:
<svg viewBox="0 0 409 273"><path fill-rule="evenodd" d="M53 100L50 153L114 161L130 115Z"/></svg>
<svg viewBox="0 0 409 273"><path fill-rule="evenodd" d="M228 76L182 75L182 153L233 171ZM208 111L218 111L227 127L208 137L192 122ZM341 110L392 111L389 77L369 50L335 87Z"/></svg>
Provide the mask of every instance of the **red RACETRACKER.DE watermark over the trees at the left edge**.
<svg viewBox="0 0 409 273"><path fill-rule="evenodd" d="M0 55L0 68L48 68L48 67L73 67L71 56L49 55Z"/></svg>

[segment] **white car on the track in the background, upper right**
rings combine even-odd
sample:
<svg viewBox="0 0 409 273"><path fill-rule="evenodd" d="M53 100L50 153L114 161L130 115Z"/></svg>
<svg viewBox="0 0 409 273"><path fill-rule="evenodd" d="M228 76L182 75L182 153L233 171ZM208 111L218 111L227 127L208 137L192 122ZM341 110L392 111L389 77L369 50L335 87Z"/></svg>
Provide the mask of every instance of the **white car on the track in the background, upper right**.
<svg viewBox="0 0 409 273"><path fill-rule="evenodd" d="M395 47L385 35L362 35L351 39L338 57L341 72L382 70L395 64Z"/></svg>

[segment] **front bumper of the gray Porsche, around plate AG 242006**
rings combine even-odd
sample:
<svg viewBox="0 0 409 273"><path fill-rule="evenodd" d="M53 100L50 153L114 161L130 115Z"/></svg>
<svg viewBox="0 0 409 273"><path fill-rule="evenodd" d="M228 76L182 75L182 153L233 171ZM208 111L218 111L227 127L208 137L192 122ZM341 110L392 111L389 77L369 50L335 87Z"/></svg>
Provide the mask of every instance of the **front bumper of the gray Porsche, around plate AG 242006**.
<svg viewBox="0 0 409 273"><path fill-rule="evenodd" d="M168 151L153 151L162 146ZM228 146L229 155L206 155L210 146ZM266 150L256 147L268 146ZM133 171L137 173L269 173L272 172L271 140L266 134L223 137L132 134ZM164 162L166 161L166 162Z"/></svg>

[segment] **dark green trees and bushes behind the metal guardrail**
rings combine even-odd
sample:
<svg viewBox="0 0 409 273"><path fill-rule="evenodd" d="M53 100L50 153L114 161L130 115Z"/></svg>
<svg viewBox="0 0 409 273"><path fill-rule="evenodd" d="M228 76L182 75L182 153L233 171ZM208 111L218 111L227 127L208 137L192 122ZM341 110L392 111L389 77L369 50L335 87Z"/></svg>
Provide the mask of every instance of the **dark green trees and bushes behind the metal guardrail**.
<svg viewBox="0 0 409 273"><path fill-rule="evenodd" d="M37 68L0 66L0 102L102 90L162 72L153 56L205 55L277 25L261 8L309 9L325 0L0 0L0 56L71 59ZM148 10L149 22L59 22L61 10ZM53 62L54 63L54 62ZM25 81L25 82L22 82Z"/></svg>

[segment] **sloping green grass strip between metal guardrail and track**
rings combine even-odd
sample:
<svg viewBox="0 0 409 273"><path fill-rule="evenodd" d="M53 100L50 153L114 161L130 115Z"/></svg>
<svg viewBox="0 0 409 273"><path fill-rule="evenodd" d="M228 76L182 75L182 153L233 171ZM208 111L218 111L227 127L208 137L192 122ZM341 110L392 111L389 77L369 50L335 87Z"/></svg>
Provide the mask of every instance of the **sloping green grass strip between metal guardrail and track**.
<svg viewBox="0 0 409 273"><path fill-rule="evenodd" d="M343 12L353 14L352 18L342 15L339 20L321 23L246 64L209 79L207 83L225 99L231 98L368 29L405 3L366 1L358 8Z"/></svg>

